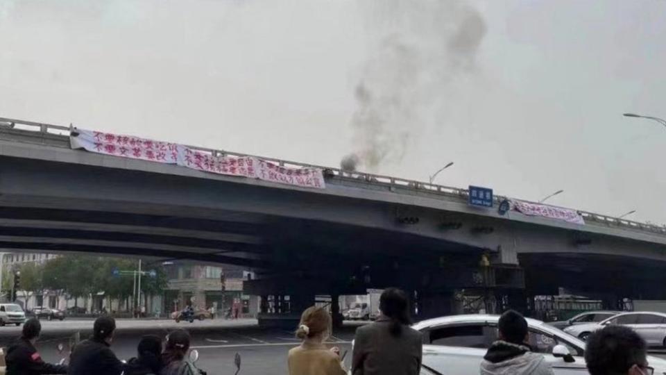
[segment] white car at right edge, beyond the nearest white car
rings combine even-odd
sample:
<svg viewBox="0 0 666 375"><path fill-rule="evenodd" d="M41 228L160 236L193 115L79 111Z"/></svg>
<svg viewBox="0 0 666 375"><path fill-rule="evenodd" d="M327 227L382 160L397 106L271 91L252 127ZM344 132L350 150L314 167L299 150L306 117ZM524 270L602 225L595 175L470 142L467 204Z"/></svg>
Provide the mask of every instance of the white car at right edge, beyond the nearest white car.
<svg viewBox="0 0 666 375"><path fill-rule="evenodd" d="M564 331L581 340L586 340L590 333L608 324L620 324L633 328L650 347L666 347L666 314L664 313L622 313L599 323L570 326Z"/></svg>

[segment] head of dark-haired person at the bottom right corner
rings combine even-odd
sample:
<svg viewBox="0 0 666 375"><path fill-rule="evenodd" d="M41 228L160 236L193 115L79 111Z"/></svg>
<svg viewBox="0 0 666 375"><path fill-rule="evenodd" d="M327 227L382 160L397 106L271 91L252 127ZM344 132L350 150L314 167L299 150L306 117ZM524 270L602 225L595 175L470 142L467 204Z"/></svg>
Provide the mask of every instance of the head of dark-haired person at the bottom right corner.
<svg viewBox="0 0 666 375"><path fill-rule="evenodd" d="M653 375L647 344L631 328L606 326L588 337L585 361L590 375Z"/></svg>

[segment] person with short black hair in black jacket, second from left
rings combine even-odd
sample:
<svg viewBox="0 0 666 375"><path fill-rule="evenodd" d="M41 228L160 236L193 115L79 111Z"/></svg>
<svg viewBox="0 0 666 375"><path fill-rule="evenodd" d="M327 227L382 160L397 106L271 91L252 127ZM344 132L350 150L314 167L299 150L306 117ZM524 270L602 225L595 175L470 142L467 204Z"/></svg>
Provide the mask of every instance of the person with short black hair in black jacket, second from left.
<svg viewBox="0 0 666 375"><path fill-rule="evenodd" d="M95 320L92 338L74 347L69 359L69 375L120 375L123 363L109 348L116 321L103 316Z"/></svg>

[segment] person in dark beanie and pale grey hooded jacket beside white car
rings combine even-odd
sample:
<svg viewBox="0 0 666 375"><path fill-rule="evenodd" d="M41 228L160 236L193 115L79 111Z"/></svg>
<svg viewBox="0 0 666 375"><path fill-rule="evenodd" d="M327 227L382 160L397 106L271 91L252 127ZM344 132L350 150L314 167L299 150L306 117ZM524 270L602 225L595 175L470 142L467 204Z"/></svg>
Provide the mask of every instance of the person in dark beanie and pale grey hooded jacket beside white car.
<svg viewBox="0 0 666 375"><path fill-rule="evenodd" d="M507 310L498 326L499 340L481 361L481 375L554 375L550 363L527 344L527 321L520 313Z"/></svg>

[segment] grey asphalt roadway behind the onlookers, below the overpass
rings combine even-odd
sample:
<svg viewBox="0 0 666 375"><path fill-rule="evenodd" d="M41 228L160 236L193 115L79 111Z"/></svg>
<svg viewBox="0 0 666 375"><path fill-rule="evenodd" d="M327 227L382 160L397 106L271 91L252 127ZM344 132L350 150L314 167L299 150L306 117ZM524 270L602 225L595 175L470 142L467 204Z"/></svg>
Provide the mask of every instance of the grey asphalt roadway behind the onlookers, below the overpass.
<svg viewBox="0 0 666 375"><path fill-rule="evenodd" d="M69 320L63 322L42 322L42 337L37 342L37 349L47 362L58 362L62 355L56 347L58 343L69 348L69 339L80 332L81 338L87 338L92 332L92 320ZM160 335L164 337L176 328L185 328L192 336L191 347L197 349L200 359L197 366L210 375L234 374L234 356L241 355L239 375L287 374L287 352L296 347L299 341L293 333L279 329L265 329L257 326L256 320L206 320L194 323L176 323L167 320L117 320L117 335L112 349L120 359L136 356L136 347L142 335ZM7 347L18 335L21 327L0 327L0 346ZM345 326L332 338L331 345L348 351L355 326ZM350 360L350 353L345 362Z"/></svg>

